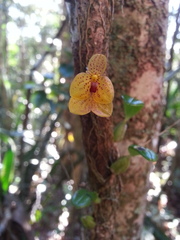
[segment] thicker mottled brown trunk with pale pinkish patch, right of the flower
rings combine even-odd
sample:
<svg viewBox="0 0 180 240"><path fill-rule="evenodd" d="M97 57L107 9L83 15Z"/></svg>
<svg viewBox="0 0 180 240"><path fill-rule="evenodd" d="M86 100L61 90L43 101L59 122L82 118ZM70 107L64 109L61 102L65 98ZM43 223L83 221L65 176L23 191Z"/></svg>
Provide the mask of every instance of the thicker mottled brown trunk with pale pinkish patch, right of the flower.
<svg viewBox="0 0 180 240"><path fill-rule="evenodd" d="M111 74L115 86L114 124L123 118L121 95L142 100L144 109L128 124L125 140L117 144L119 155L130 144L156 150L161 126L162 78L168 1L116 1L110 40ZM122 175L123 189L116 215L114 239L140 239L151 164L141 157L131 159Z"/></svg>

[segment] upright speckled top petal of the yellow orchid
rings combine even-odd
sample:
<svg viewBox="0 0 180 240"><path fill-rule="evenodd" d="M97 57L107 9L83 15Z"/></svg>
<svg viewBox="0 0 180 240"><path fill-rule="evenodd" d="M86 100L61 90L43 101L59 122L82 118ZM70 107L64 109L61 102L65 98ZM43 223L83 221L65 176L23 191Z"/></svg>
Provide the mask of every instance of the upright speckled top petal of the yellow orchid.
<svg viewBox="0 0 180 240"><path fill-rule="evenodd" d="M93 55L88 63L88 72L102 75L107 67L107 58L102 54Z"/></svg>

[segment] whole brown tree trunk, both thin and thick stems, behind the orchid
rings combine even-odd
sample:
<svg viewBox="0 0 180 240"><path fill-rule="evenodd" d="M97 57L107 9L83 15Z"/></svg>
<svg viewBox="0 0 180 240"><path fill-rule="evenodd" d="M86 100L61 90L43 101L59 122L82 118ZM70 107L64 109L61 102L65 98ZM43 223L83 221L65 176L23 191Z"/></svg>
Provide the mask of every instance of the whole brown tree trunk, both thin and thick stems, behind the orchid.
<svg viewBox="0 0 180 240"><path fill-rule="evenodd" d="M75 74L85 72L93 54L108 56L110 43L110 75L115 86L113 119L93 113L81 117L90 189L102 199L93 209L96 227L85 238L91 240L140 239L151 166L141 157L133 158L122 175L121 196L120 178L109 166L117 159L117 150L122 156L130 144L143 145L159 131L161 122L167 1L128 0L124 6L120 2L115 1L115 12L113 0L67 3ZM112 122L123 118L120 96L124 93L144 101L145 108L130 121L125 140L115 145ZM155 148L157 138L153 139Z"/></svg>

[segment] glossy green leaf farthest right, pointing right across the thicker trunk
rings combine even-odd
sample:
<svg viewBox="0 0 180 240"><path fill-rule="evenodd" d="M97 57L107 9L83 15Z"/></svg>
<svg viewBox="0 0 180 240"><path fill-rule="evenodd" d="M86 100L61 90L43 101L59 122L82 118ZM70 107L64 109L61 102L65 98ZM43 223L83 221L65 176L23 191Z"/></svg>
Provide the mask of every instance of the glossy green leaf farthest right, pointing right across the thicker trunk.
<svg viewBox="0 0 180 240"><path fill-rule="evenodd" d="M131 154L131 156L141 155L148 161L151 162L157 161L157 154L148 148L140 147L138 145L131 145L129 146L128 151Z"/></svg>

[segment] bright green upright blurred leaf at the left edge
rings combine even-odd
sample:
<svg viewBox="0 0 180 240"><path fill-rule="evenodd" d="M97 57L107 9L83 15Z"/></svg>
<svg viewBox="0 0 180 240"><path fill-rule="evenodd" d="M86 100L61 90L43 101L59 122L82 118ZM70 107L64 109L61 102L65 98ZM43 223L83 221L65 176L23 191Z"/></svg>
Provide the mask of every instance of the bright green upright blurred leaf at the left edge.
<svg viewBox="0 0 180 240"><path fill-rule="evenodd" d="M2 169L0 172L0 182L4 192L7 192L14 177L14 153L8 150L3 158Z"/></svg>

